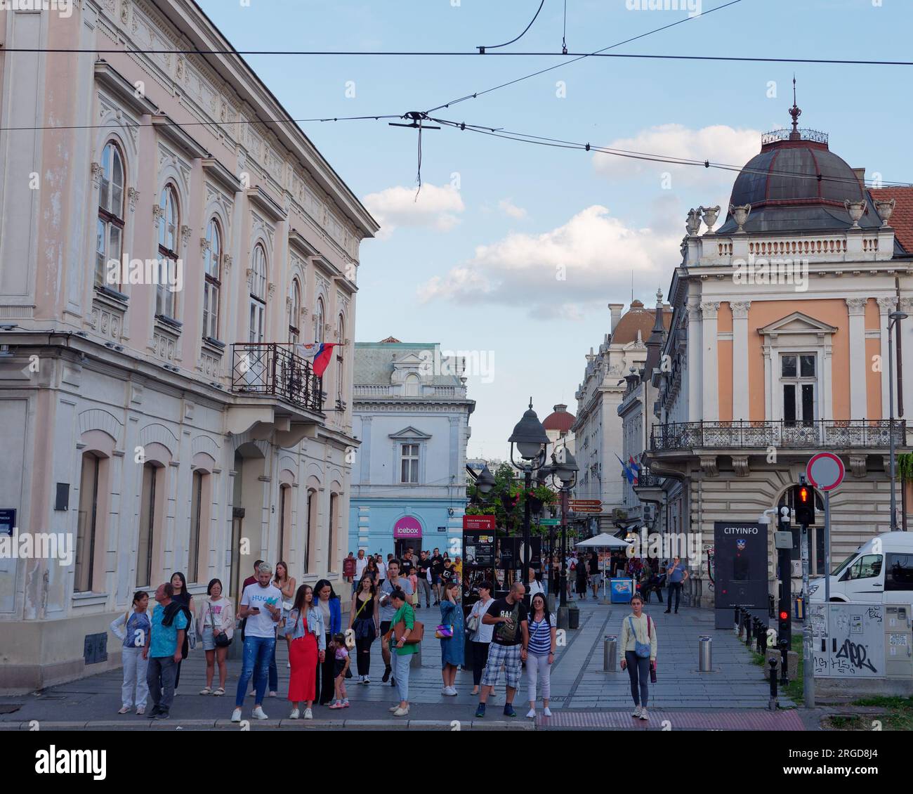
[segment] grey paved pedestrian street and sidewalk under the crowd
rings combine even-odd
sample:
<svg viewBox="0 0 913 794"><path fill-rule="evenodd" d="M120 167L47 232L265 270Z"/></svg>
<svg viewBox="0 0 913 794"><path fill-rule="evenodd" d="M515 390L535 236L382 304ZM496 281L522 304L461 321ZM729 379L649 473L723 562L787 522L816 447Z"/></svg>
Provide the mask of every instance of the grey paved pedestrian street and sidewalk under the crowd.
<svg viewBox="0 0 913 794"><path fill-rule="evenodd" d="M566 644L558 649L556 662L551 674L551 707L556 712L554 724L540 719L536 727L583 727L585 721L570 715L577 712L593 713L592 727L645 728L646 725L630 725L632 705L630 685L626 672L603 672L603 637L606 634L620 634L621 622L629 614L625 605L603 605L591 599L579 602L581 623L578 630L566 633ZM532 721L525 719L527 694L525 684L515 700L518 715L506 719L501 715L504 704L503 683L498 687L494 700L489 700L488 715L484 720L475 720L473 715L477 698L470 694L472 673L459 672L456 679L456 697L441 694L440 640L434 639L433 627L437 623L436 608L420 609L419 618L425 622L425 640L422 643L422 667L413 669L410 675L410 714L405 720L392 718L387 707L394 703L395 690L381 682L383 661L379 641L372 648L372 683L365 686L356 679L347 682L352 706L344 711L330 711L326 707L314 707L312 722L294 722L287 719L289 703L285 699L289 686L289 670L286 667L285 643L278 645L278 698L267 698L264 710L270 716L268 721L251 721L250 728L265 727L367 727L369 721L378 728L388 729L392 725L409 728L439 728L446 730L531 728ZM736 712L750 715L751 709L766 708L769 685L764 680L761 668L751 663L750 653L735 638L731 631L713 630L713 613L708 609L682 608L678 615L665 615L661 608L651 605L648 614L656 622L658 656L658 683L651 686L651 719L648 727L660 729L665 715L672 724L674 717L668 714L674 710L698 710L718 712L731 710L730 722L740 722ZM714 672L698 673L698 637L709 634L714 638ZM109 652L118 652L117 646ZM118 715L121 705L121 671L114 670L90 676L77 682L51 687L41 693L0 698L0 729L22 729L37 720L44 728L71 727L110 730L114 728L147 729L151 723L155 728L178 725L188 729L233 728L227 720L234 708L237 676L240 672L237 661L229 661L226 695L223 697L197 694L205 684L205 657L202 651L194 651L184 662L181 672L181 687L172 707L172 719L157 723L137 715ZM355 672L355 671L353 671ZM216 679L217 681L217 679ZM792 705L781 700L782 705ZM250 717L253 698L247 697L244 716ZM541 710L541 705L540 705ZM564 711L566 714L561 715ZM600 716L600 713L617 712L617 715ZM621 719L619 715L626 715ZM771 715L778 716L778 715ZM688 717L698 726L699 719ZM704 718L702 718L704 719ZM765 718L766 719L766 718ZM620 720L620 721L619 721ZM684 716L683 716L684 720ZM750 720L741 720L748 727ZM457 725L458 723L458 725ZM616 725L617 723L617 725ZM719 726L711 721L707 727ZM786 727L784 729L792 729ZM684 726L684 725L682 725ZM731 726L730 726L731 729Z"/></svg>

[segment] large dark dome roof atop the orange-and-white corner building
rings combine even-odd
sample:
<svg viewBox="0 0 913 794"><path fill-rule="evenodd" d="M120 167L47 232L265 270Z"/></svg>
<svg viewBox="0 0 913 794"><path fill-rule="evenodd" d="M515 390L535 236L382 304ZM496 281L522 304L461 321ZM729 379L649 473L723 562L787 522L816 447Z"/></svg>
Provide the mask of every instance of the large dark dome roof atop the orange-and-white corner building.
<svg viewBox="0 0 913 794"><path fill-rule="evenodd" d="M831 152L824 133L798 128L795 120L802 111L793 105L790 112L792 131L776 130L761 138L761 152L742 167L729 204L750 204L743 227L747 232L851 227L844 201L865 198L862 177ZM880 225L871 207L866 208L859 225ZM736 229L728 214L717 233L731 234Z"/></svg>

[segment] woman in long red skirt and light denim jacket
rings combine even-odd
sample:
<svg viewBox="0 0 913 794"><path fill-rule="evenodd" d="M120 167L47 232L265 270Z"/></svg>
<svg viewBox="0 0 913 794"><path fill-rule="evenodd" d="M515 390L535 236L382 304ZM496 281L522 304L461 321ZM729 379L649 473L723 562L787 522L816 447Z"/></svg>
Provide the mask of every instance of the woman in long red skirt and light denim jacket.
<svg viewBox="0 0 913 794"><path fill-rule="evenodd" d="M286 621L286 637L289 639L289 719L299 718L299 704L304 702L304 718L313 719L310 711L317 692L317 662L323 662L326 655L326 630L323 626L323 612L315 609L314 591L310 585L301 585L295 593L295 603Z"/></svg>

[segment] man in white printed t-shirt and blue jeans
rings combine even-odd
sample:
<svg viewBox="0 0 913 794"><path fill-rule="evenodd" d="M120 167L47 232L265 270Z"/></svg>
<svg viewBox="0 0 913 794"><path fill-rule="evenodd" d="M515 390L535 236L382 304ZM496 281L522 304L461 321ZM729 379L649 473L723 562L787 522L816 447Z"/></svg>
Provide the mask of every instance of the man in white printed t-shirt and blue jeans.
<svg viewBox="0 0 913 794"><path fill-rule="evenodd" d="M276 626L282 617L282 591L272 584L273 568L261 563L257 569L257 581L244 588L238 617L247 618L244 630L244 662L241 676L237 681L233 723L241 722L241 706L247 693L251 675L257 688L253 716L258 720L268 719L263 713L263 696L267 691L269 662L276 647Z"/></svg>

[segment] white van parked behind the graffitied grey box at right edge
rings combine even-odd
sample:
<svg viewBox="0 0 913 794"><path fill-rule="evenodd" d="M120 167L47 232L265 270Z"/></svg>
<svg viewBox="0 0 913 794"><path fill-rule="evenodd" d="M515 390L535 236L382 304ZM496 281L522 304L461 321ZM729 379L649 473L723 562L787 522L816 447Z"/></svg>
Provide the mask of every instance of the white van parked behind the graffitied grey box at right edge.
<svg viewBox="0 0 913 794"><path fill-rule="evenodd" d="M812 601L824 601L824 577L809 582ZM913 605L913 533L876 535L831 574L831 600Z"/></svg>

